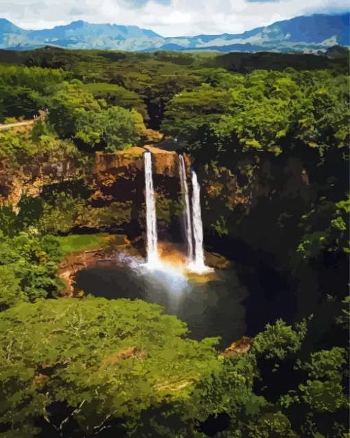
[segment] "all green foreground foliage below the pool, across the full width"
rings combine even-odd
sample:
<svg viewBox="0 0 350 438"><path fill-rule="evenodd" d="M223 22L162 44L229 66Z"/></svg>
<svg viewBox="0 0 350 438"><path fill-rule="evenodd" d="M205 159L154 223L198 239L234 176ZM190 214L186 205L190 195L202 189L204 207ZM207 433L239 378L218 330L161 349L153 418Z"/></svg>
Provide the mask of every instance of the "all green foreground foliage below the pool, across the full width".
<svg viewBox="0 0 350 438"><path fill-rule="evenodd" d="M132 437L200 438L208 436L210 417L218 437L345 433L347 351L334 347L297 359L305 322L277 321L248 353L231 359L215 351L216 338L197 342L186 334L185 323L141 300L39 299L5 310L2 436L30 438L40 429L102 436L106 428ZM283 379L284 360L294 361L299 380L294 384L290 374L289 390L273 401L257 391L257 382L274 362L274 378ZM276 390L274 383L264 379ZM223 429L218 414L228 416Z"/></svg>

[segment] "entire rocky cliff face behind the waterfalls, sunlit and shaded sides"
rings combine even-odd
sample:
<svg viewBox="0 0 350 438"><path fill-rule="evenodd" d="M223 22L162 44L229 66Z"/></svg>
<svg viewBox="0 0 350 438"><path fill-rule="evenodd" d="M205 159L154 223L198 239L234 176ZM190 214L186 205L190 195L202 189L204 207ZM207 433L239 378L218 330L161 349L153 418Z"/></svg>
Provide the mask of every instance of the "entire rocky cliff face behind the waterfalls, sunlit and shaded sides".
<svg viewBox="0 0 350 438"><path fill-rule="evenodd" d="M68 156L47 156L14 169L3 160L0 206L11 206L18 212L21 198L40 196L50 187L60 187L65 192L79 181L87 207L72 220L72 228L115 226L116 230L137 237L145 231L143 153L146 148L152 152L159 237L180 242L184 236L178 157L176 152L152 146L115 153L96 152L89 165L77 163ZM185 156L187 170L192 161ZM202 185L205 234L229 235L274 253L278 253L281 240L272 240L270 235L280 232L283 238L285 222L293 222L293 218L281 215L281 211L288 211L290 205L296 213L304 210L317 194L303 163L291 157L266 156L255 167L245 159L237 161L233 170L212 162L197 165L196 171Z"/></svg>

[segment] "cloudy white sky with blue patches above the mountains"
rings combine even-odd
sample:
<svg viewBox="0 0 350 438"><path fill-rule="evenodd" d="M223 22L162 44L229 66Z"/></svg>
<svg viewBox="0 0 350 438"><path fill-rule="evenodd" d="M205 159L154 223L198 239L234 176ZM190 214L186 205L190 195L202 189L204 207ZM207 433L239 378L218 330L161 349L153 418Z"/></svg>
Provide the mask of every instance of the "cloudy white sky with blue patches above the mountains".
<svg viewBox="0 0 350 438"><path fill-rule="evenodd" d="M0 0L0 17L23 29L84 20L137 25L162 36L238 34L303 14L348 10L348 0Z"/></svg>

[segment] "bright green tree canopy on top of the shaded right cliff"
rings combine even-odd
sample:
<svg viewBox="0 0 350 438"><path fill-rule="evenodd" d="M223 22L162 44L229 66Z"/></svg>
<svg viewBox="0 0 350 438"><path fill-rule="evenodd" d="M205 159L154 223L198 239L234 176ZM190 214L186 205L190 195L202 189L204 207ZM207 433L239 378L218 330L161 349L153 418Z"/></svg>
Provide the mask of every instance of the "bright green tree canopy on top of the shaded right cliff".
<svg viewBox="0 0 350 438"><path fill-rule="evenodd" d="M216 142L237 138L244 150L267 149L278 154L283 140L291 136L311 147L344 147L349 139L347 77L316 72L305 87L303 76L296 71L256 70L244 78L216 71L209 76L210 87L173 97L162 129L177 135L189 150L199 128L210 130Z"/></svg>

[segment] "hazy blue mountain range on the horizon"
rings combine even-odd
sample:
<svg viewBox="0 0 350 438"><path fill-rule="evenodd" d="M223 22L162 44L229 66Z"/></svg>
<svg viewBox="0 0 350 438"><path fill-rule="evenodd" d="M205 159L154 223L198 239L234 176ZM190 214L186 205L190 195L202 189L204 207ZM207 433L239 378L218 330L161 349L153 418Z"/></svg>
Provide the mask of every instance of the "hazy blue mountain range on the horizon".
<svg viewBox="0 0 350 438"><path fill-rule="evenodd" d="M326 51L334 45L349 47L349 12L314 14L278 21L243 34L163 37L137 26L73 21L52 29L24 30L0 19L0 49L29 50L47 45L67 49L124 51Z"/></svg>

